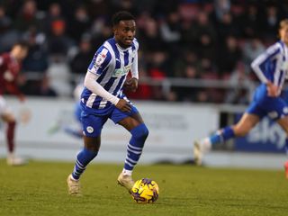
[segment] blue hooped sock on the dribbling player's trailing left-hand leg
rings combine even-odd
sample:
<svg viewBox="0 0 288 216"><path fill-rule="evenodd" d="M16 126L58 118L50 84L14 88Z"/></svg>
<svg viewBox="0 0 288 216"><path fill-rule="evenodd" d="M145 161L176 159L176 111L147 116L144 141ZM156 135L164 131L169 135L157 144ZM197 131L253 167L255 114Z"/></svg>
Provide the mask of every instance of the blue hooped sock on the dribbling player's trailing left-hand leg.
<svg viewBox="0 0 288 216"><path fill-rule="evenodd" d="M72 176L74 179L79 179L80 175L85 171L86 166L89 164L91 160L96 157L98 154L97 151L91 151L87 148L83 148L76 157L76 164L74 166L74 170Z"/></svg>

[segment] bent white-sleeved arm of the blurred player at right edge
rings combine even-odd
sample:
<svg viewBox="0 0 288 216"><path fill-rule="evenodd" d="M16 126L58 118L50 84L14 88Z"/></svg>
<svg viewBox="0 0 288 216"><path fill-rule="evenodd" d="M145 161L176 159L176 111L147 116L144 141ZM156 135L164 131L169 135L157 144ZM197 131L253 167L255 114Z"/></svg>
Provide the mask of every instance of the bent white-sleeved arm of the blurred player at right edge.
<svg viewBox="0 0 288 216"><path fill-rule="evenodd" d="M275 44L270 48L266 49L266 52L258 56L251 64L251 67L257 74L259 80L266 84L267 92L269 96L278 96L280 94L280 89L278 85L275 85L265 74L265 65L267 61L273 58L277 58L280 53L279 44Z"/></svg>

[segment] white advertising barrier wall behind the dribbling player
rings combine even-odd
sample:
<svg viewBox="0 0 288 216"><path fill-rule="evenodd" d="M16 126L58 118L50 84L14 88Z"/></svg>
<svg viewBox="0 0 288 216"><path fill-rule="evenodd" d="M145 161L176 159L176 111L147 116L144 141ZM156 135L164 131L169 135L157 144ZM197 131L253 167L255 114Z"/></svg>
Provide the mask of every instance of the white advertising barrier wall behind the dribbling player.
<svg viewBox="0 0 288 216"><path fill-rule="evenodd" d="M82 139L68 135L64 130L49 134L49 129L62 125L77 127L72 100L28 98L24 104L8 100L18 119L29 110L31 121L19 123L16 131L16 151L19 155L37 159L74 160L82 148ZM199 139L217 130L219 114L208 105L184 103L134 102L149 129L149 136L140 162L182 162L192 159L193 139ZM97 161L123 162L130 133L112 121L103 128L102 147ZM0 134L0 155L6 152L4 125Z"/></svg>

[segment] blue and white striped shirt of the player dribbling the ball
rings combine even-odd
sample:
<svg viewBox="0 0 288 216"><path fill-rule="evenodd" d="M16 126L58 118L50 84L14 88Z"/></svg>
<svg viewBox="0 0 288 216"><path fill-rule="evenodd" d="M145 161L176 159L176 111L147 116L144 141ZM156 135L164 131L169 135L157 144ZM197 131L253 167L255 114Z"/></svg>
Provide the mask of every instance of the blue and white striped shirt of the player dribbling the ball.
<svg viewBox="0 0 288 216"><path fill-rule="evenodd" d="M114 38L106 40L94 54L87 71L96 75L96 82L107 92L121 97L126 76L129 72L138 74L138 49L139 43L136 39L127 49L122 49ZM85 107L97 110L112 105L111 102L94 94L86 87L81 94L81 102L85 104Z"/></svg>

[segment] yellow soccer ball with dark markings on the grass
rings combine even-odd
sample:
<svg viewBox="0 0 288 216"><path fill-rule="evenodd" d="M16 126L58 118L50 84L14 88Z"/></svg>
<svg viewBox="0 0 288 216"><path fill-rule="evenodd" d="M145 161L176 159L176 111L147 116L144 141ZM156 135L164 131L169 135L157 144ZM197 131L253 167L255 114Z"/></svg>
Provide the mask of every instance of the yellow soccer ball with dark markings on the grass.
<svg viewBox="0 0 288 216"><path fill-rule="evenodd" d="M159 196L159 187L155 181L142 178L133 185L131 195L137 203L153 203Z"/></svg>

